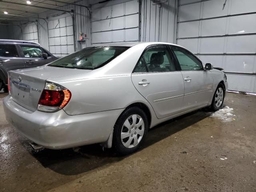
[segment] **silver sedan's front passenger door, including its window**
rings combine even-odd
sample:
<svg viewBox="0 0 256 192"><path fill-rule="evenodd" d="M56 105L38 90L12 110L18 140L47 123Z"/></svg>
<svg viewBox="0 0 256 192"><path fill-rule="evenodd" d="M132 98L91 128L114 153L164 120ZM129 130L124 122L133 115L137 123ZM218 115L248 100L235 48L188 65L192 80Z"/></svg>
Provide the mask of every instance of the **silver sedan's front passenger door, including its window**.
<svg viewBox="0 0 256 192"><path fill-rule="evenodd" d="M184 79L183 108L189 110L208 104L213 91L212 73L204 70L202 62L188 50L172 46L172 51Z"/></svg>

